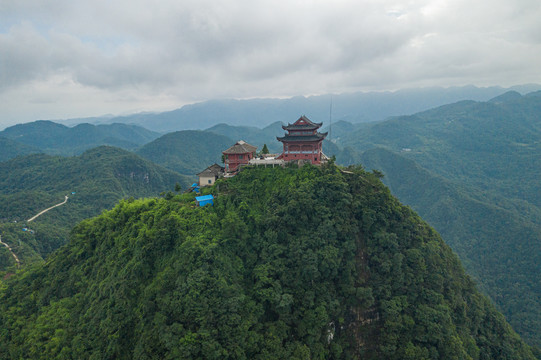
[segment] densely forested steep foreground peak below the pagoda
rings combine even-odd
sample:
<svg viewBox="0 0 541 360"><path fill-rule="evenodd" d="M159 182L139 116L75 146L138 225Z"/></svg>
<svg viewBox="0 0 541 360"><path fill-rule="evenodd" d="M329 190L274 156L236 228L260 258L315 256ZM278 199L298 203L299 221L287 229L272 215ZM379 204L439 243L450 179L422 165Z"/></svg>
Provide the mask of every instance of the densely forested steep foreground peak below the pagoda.
<svg viewBox="0 0 541 360"><path fill-rule="evenodd" d="M0 285L0 358L534 359L439 235L360 167L123 200Z"/></svg>

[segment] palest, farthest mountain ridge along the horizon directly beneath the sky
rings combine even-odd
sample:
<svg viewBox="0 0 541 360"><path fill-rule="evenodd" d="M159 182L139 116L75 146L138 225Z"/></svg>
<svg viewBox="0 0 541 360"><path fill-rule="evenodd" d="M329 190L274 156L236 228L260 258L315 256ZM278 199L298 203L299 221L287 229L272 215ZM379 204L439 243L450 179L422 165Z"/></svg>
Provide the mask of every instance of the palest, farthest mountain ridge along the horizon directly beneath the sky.
<svg viewBox="0 0 541 360"><path fill-rule="evenodd" d="M330 94L297 96L289 99L210 100L185 105L173 111L140 113L98 121L137 124L160 132L206 129L221 123L262 128L277 121L294 121L303 114L312 121L328 124L332 98L334 121L346 120L358 123L383 120L389 116L413 114L459 100L487 101L508 90L525 93L540 89L541 85L524 85L509 89L464 86L406 89L394 92L359 92L332 96ZM67 123L80 121L81 119L67 120ZM88 121L94 122L96 119L88 119Z"/></svg>

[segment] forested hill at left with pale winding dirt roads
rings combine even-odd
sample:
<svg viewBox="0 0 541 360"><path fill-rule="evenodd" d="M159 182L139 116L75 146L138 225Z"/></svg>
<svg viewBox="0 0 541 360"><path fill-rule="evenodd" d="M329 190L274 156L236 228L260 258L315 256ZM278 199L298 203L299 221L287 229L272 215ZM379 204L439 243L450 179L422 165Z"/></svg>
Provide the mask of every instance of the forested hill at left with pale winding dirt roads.
<svg viewBox="0 0 541 360"><path fill-rule="evenodd" d="M156 196L176 183L183 188L189 185L182 175L106 146L76 157L36 154L0 162L0 235L28 264L65 244L69 231L81 220L110 209L122 198ZM25 221L66 195L65 205L31 223ZM22 231L23 227L33 233ZM15 265L0 246L0 270Z"/></svg>

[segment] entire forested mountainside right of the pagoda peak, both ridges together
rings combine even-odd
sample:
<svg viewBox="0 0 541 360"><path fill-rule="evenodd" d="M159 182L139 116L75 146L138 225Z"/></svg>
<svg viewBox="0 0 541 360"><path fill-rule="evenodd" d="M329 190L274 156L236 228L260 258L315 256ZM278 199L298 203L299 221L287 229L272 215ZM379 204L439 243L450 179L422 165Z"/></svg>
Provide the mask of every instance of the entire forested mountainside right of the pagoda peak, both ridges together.
<svg viewBox="0 0 541 360"><path fill-rule="evenodd" d="M540 113L539 93L459 102L344 133L339 145L349 149L337 154L340 163L382 170L391 191L442 234L513 327L538 346Z"/></svg>

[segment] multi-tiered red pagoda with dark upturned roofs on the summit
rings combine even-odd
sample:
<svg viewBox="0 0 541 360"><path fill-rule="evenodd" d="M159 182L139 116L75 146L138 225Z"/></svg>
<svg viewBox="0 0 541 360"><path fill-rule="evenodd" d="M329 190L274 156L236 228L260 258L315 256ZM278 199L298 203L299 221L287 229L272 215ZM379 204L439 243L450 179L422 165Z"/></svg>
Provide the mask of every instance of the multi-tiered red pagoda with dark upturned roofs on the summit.
<svg viewBox="0 0 541 360"><path fill-rule="evenodd" d="M293 124L282 125L287 134L276 138L284 144L284 150L278 159L321 164L322 158L326 158L322 151L322 142L327 136L327 133L317 131L321 125L323 123L314 123L304 115Z"/></svg>

